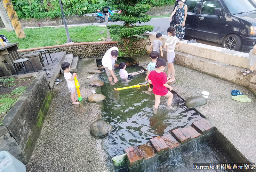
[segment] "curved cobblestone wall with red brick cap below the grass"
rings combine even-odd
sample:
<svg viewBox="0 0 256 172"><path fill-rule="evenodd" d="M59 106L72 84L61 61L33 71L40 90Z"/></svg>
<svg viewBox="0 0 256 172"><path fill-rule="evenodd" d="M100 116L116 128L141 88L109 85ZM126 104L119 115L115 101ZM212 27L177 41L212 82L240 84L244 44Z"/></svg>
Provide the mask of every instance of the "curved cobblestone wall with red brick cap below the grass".
<svg viewBox="0 0 256 172"><path fill-rule="evenodd" d="M150 44L148 39L132 42L132 49L124 56L131 56L132 54L143 55L147 53L146 45ZM66 51L67 54L74 54L80 58L101 58L110 47L118 47L120 51L126 52L125 46L116 41L101 41L101 42L82 42L73 44L63 44L58 46L38 47L18 50L20 56L27 53L34 53L36 50L47 48L50 53Z"/></svg>

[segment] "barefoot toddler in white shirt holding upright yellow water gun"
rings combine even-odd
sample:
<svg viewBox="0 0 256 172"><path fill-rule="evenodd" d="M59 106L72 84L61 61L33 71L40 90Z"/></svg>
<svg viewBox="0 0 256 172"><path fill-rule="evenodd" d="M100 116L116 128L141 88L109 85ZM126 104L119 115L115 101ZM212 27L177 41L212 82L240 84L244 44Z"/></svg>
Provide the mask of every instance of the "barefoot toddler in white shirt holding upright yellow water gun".
<svg viewBox="0 0 256 172"><path fill-rule="evenodd" d="M79 102L76 102L78 98L76 97L76 86L75 86L75 76L76 73L73 73L73 75L69 72L70 71L70 64L68 62L63 62L61 64L61 68L64 71L64 77L68 83L68 90L71 93L70 97L72 100L72 104L79 104Z"/></svg>

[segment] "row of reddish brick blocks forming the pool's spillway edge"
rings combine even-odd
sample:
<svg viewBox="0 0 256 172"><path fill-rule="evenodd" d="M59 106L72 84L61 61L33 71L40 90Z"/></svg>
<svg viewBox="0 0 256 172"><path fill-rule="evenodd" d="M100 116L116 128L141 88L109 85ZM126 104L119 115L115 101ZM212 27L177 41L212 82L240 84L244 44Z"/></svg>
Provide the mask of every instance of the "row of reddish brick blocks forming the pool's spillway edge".
<svg viewBox="0 0 256 172"><path fill-rule="evenodd" d="M162 154L175 147L179 147L194 138L209 133L213 128L214 125L202 118L193 122L192 125L189 125L186 128L176 128L172 130L171 134L167 134L162 137L154 137L144 145L126 148L125 152L129 171L141 171L144 164L147 164L146 161L149 161L149 159L156 156L162 156ZM114 164L115 158L116 157L112 158ZM125 161L125 158L123 161ZM116 164L115 166L116 168L119 168Z"/></svg>

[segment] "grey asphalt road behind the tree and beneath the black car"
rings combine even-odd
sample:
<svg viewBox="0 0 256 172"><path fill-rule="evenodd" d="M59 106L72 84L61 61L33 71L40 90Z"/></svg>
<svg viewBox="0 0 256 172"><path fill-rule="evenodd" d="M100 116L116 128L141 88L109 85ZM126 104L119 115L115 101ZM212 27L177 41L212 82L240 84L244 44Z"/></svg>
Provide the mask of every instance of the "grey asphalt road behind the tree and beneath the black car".
<svg viewBox="0 0 256 172"><path fill-rule="evenodd" d="M121 24L122 24L121 22L108 22L108 25L121 25ZM142 23L142 24L137 24L137 25L145 25L145 24L154 26L153 32L162 32L164 35L167 35L167 29L170 26L169 17L152 18L147 23ZM88 25L88 23L86 23L86 24L84 23L82 25ZM93 23L93 25L106 25L106 23L105 22ZM195 39L195 38L185 37L184 39L191 40L191 39ZM222 44L218 44L218 43L214 43L214 42L210 42L210 41L206 41L206 40L202 40L202 39L196 39L196 42L206 44L206 45L215 46L215 47L222 47ZM240 51L244 52L244 53L249 53L249 51L247 51L247 50L240 50Z"/></svg>

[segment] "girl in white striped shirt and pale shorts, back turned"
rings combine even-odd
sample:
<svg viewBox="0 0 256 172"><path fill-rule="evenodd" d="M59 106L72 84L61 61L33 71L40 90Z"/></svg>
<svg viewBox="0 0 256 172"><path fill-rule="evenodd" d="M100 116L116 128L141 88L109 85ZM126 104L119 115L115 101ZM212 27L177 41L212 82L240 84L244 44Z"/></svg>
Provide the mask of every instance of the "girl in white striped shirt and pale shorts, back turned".
<svg viewBox="0 0 256 172"><path fill-rule="evenodd" d="M172 82L172 81L175 81L175 77L174 77L175 70L174 70L174 66L173 66L173 62L174 62L174 58L175 58L174 49L176 47L182 46L182 43L175 36L175 28L174 27L172 27L172 26L169 27L167 29L167 33L169 35L169 38L166 40L166 42L164 44L164 49L167 50L167 62L168 62L168 77L167 77L167 80L171 78L168 82ZM168 48L167 48L167 46L168 46ZM172 77L171 77L171 72L172 72Z"/></svg>

